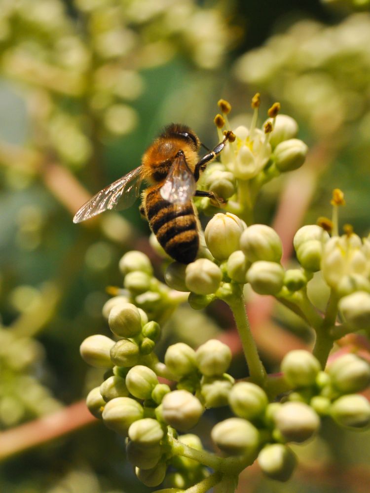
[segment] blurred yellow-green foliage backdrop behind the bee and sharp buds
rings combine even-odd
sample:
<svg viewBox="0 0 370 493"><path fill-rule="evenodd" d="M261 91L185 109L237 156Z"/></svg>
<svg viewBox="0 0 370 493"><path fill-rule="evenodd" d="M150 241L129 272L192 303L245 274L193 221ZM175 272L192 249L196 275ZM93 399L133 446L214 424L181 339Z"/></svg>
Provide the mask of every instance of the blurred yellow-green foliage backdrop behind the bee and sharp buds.
<svg viewBox="0 0 370 493"><path fill-rule="evenodd" d="M137 167L164 125L188 124L212 147L217 101L230 101L240 122L257 91L260 123L279 101L310 147L304 170L263 190L257 221L275 224L289 251L300 225L330 215L338 187L341 224L368 234L369 1L0 0L0 492L150 491L125 462L123 439L85 410L102 374L78 348L88 335L109 335L101 310L106 286L121 285L121 255L145 251L159 277L160 261L136 206L80 225L72 217ZM162 347L221 337L235 354L232 373L245 376L223 306L187 310ZM256 338L274 371L309 332L271 310ZM185 325L185 313L195 322ZM192 333L199 323L203 332ZM223 413L209 413L198 430L206 446ZM49 427L35 421L44 416ZM368 492L369 431L325 424L297 450L290 483L252 467L238 491Z"/></svg>

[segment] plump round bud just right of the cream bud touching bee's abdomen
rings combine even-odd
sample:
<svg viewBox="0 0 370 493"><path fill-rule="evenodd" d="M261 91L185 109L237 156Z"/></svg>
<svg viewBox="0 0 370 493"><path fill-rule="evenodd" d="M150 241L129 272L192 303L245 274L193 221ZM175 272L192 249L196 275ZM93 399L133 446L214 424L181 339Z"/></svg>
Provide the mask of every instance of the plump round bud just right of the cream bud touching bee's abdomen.
<svg viewBox="0 0 370 493"><path fill-rule="evenodd" d="M253 224L241 235L240 248L251 262L280 262L283 246L275 230L265 224Z"/></svg>

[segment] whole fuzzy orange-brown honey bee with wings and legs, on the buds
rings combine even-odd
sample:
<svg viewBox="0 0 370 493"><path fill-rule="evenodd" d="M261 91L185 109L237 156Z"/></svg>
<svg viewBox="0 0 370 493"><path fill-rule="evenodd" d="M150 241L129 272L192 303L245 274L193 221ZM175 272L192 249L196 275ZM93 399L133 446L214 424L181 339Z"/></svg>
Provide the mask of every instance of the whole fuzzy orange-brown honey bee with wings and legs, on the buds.
<svg viewBox="0 0 370 493"><path fill-rule="evenodd" d="M149 186L142 194L140 211L150 229L174 260L183 264L193 262L199 248L199 221L191 198L209 197L222 202L213 192L196 190L196 182L230 135L226 132L223 141L199 159L203 144L197 135L186 125L169 125L148 147L142 164L94 195L76 212L73 222L106 210L130 207L145 180Z"/></svg>

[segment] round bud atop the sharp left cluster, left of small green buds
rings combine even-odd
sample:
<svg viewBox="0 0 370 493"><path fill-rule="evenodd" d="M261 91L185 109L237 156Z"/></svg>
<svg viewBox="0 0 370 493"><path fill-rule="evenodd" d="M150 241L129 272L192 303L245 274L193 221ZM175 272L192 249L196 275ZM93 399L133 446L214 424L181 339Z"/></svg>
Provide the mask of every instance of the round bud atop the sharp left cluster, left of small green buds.
<svg viewBox="0 0 370 493"><path fill-rule="evenodd" d="M141 316L132 303L113 306L108 323L113 334L119 337L135 337L141 332Z"/></svg>

